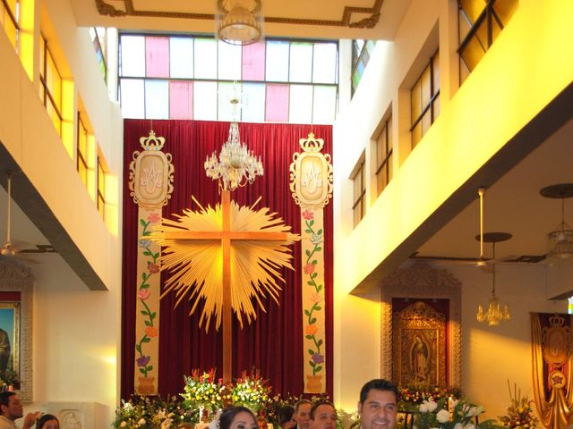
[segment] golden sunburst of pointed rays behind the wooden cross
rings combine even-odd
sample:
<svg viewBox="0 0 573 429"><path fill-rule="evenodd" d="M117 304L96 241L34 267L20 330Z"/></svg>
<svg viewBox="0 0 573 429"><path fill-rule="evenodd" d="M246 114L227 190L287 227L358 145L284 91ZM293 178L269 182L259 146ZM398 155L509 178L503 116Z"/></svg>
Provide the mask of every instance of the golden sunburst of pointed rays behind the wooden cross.
<svg viewBox="0 0 573 429"><path fill-rule="evenodd" d="M194 198L193 198L194 199ZM286 225L269 208L254 210L253 206L230 204L230 228L225 231L224 209L221 204L200 210L184 209L176 214L177 220L162 219L149 237L164 247L161 270L172 273L161 295L175 291L177 306L185 296L192 301L190 315L204 301L200 326L209 330L210 320L216 316L216 329L221 324L223 307L223 241L230 240L230 294L231 307L241 328L243 315L247 323L256 318L252 299L263 311L261 298L269 295L278 303L278 284L283 267L293 269L289 246L300 237L289 233ZM256 205L256 203L255 203ZM284 237L272 240L272 237Z"/></svg>

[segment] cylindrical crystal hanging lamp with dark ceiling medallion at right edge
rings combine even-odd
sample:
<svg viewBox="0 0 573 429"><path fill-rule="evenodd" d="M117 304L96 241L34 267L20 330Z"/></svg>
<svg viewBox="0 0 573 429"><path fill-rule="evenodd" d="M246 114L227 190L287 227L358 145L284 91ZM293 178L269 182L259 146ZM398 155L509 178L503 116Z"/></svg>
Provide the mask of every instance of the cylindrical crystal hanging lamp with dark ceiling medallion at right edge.
<svg viewBox="0 0 573 429"><path fill-rule="evenodd" d="M547 257L554 262L573 260L573 230L565 223L565 198L573 197L573 183L547 186L539 191L545 198L560 198L561 222L547 234Z"/></svg>

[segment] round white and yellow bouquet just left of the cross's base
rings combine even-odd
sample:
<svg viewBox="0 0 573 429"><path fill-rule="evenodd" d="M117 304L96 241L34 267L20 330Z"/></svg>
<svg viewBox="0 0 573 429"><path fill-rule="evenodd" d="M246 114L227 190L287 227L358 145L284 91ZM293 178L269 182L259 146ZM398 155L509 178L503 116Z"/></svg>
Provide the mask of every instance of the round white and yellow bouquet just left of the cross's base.
<svg viewBox="0 0 573 429"><path fill-rule="evenodd" d="M184 405L188 408L204 408L210 413L218 408L223 408L229 399L227 386L220 378L215 380L215 370L199 374L198 369L193 369L190 376L184 375L185 387L181 396Z"/></svg>

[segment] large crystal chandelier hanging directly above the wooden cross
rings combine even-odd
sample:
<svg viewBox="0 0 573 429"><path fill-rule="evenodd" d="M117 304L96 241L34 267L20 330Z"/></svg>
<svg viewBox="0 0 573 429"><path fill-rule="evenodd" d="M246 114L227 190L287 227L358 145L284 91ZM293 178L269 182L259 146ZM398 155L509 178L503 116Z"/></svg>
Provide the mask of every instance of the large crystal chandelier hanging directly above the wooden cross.
<svg viewBox="0 0 573 429"><path fill-rule="evenodd" d="M234 97L231 103L236 107L239 100ZM229 137L217 157L217 151L205 160L205 172L207 177L219 181L219 185L225 190L235 190L247 183L252 183L257 176L262 176L261 156L256 156L249 151L246 145L241 144L239 124L231 122Z"/></svg>

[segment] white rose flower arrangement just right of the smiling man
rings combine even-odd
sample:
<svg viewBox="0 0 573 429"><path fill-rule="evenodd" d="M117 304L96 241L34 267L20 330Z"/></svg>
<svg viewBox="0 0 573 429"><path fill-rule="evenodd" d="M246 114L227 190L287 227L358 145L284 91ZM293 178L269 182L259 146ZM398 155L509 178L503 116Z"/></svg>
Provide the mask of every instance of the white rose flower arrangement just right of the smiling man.
<svg viewBox="0 0 573 429"><path fill-rule="evenodd" d="M440 427L443 429L492 429L499 427L494 420L485 420L476 425L477 416L483 413L483 407L469 403L467 400L450 400L441 398L438 401L423 400L415 416L418 429Z"/></svg>

